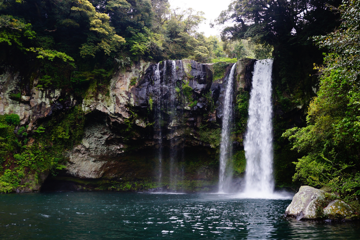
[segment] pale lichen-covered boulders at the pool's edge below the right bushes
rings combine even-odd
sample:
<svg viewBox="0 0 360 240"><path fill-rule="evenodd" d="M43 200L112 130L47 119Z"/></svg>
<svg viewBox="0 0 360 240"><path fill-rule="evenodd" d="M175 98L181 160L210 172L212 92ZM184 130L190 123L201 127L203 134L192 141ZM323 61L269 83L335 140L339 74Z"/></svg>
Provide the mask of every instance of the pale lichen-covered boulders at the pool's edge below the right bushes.
<svg viewBox="0 0 360 240"><path fill-rule="evenodd" d="M301 186L285 215L297 220L345 220L359 218L356 209L335 194L310 186Z"/></svg>

